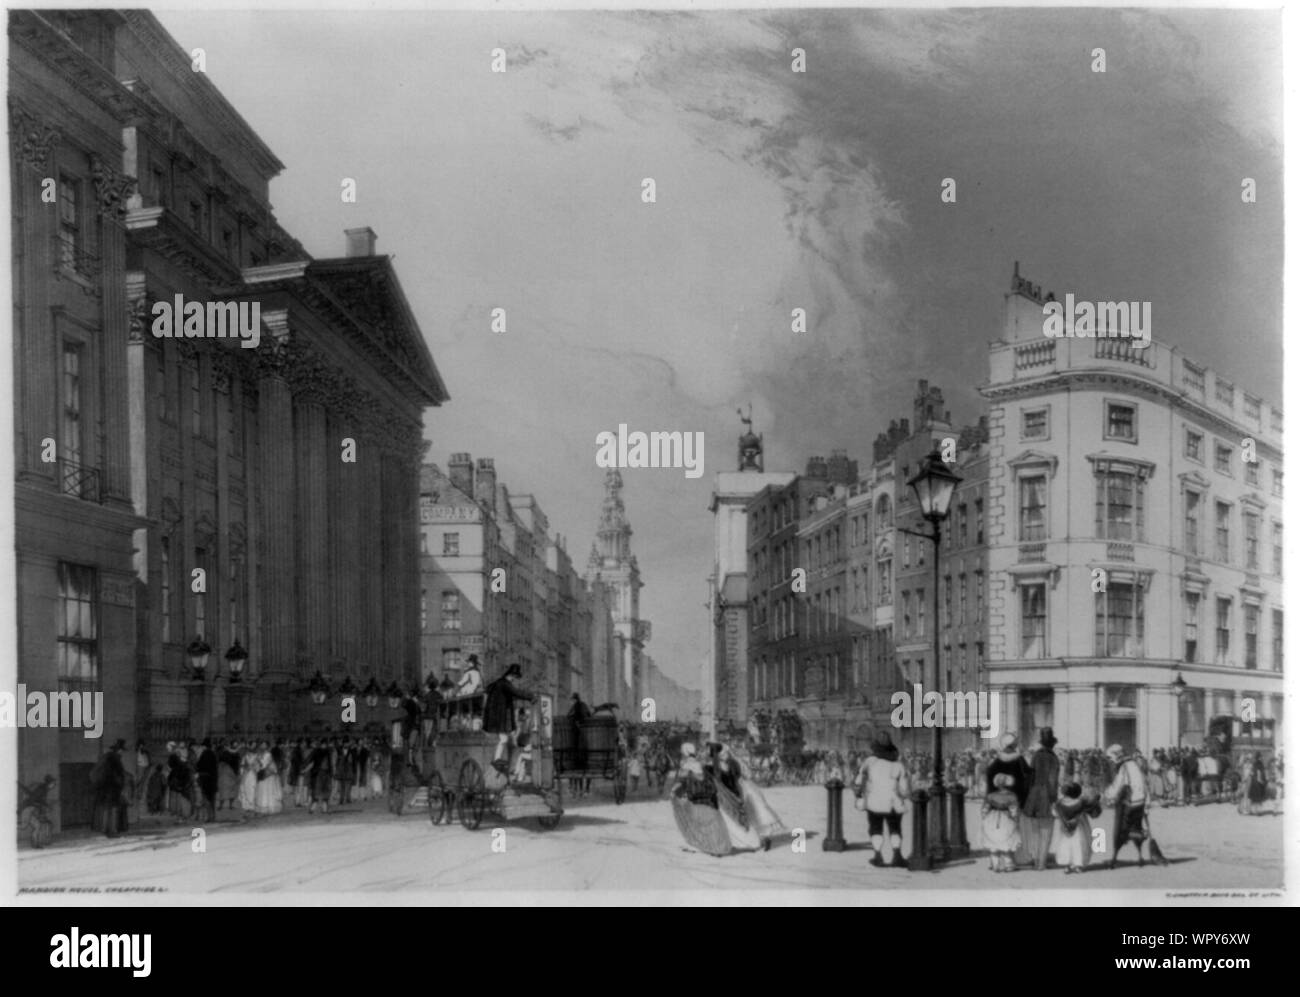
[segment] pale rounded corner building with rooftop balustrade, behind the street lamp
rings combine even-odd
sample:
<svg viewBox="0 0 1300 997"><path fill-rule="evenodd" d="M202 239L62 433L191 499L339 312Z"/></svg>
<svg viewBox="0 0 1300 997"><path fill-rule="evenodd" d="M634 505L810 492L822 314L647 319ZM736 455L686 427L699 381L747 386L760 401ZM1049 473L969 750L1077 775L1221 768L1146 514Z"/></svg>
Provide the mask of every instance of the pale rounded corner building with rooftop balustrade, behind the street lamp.
<svg viewBox="0 0 1300 997"><path fill-rule="evenodd" d="M1004 727L1070 747L1277 747L1280 409L1165 342L1158 311L1138 348L1048 338L1050 300L1017 268L982 389Z"/></svg>

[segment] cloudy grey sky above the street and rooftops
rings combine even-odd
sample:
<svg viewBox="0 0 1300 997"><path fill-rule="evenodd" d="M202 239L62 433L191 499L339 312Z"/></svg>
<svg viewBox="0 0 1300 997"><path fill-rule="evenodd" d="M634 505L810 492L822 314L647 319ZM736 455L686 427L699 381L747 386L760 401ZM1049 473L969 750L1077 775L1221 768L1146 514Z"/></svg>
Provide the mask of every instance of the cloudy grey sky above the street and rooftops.
<svg viewBox="0 0 1300 997"><path fill-rule="evenodd" d="M650 653L690 685L736 408L768 469L864 461L918 378L974 421L1013 260L1058 296L1152 302L1156 339L1280 402L1277 13L160 18L285 161L272 200L308 251L369 225L395 257L452 396L433 460L495 458L582 565L597 434L705 433L699 480L624 472Z"/></svg>

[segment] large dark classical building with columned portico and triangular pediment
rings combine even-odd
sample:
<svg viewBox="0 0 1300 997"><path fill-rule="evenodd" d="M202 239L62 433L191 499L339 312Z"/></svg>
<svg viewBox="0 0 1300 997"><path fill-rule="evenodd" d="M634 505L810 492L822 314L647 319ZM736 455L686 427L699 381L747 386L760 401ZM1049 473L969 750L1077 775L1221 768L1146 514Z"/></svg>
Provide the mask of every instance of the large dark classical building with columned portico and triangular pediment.
<svg viewBox="0 0 1300 997"><path fill-rule="evenodd" d="M23 679L101 689L105 737L155 746L339 727L344 682L419 675L447 391L391 261L369 229L333 259L285 233L282 164L148 12L16 12L10 39ZM156 337L178 300L250 305L260 343ZM88 771L73 741L29 737L23 775Z"/></svg>

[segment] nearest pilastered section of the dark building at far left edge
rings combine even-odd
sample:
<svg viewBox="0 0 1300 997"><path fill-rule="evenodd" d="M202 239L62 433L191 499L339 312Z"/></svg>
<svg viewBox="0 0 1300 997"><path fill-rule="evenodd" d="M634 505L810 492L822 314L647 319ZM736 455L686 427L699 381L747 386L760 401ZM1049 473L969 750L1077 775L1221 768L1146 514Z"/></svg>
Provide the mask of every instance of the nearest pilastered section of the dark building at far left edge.
<svg viewBox="0 0 1300 997"><path fill-rule="evenodd" d="M18 779L55 789L56 829L90 819L103 747L135 733L122 129L112 12L9 12L17 681L103 694L98 738L29 727ZM12 686L10 686L12 692ZM18 705L26 710L23 703Z"/></svg>

